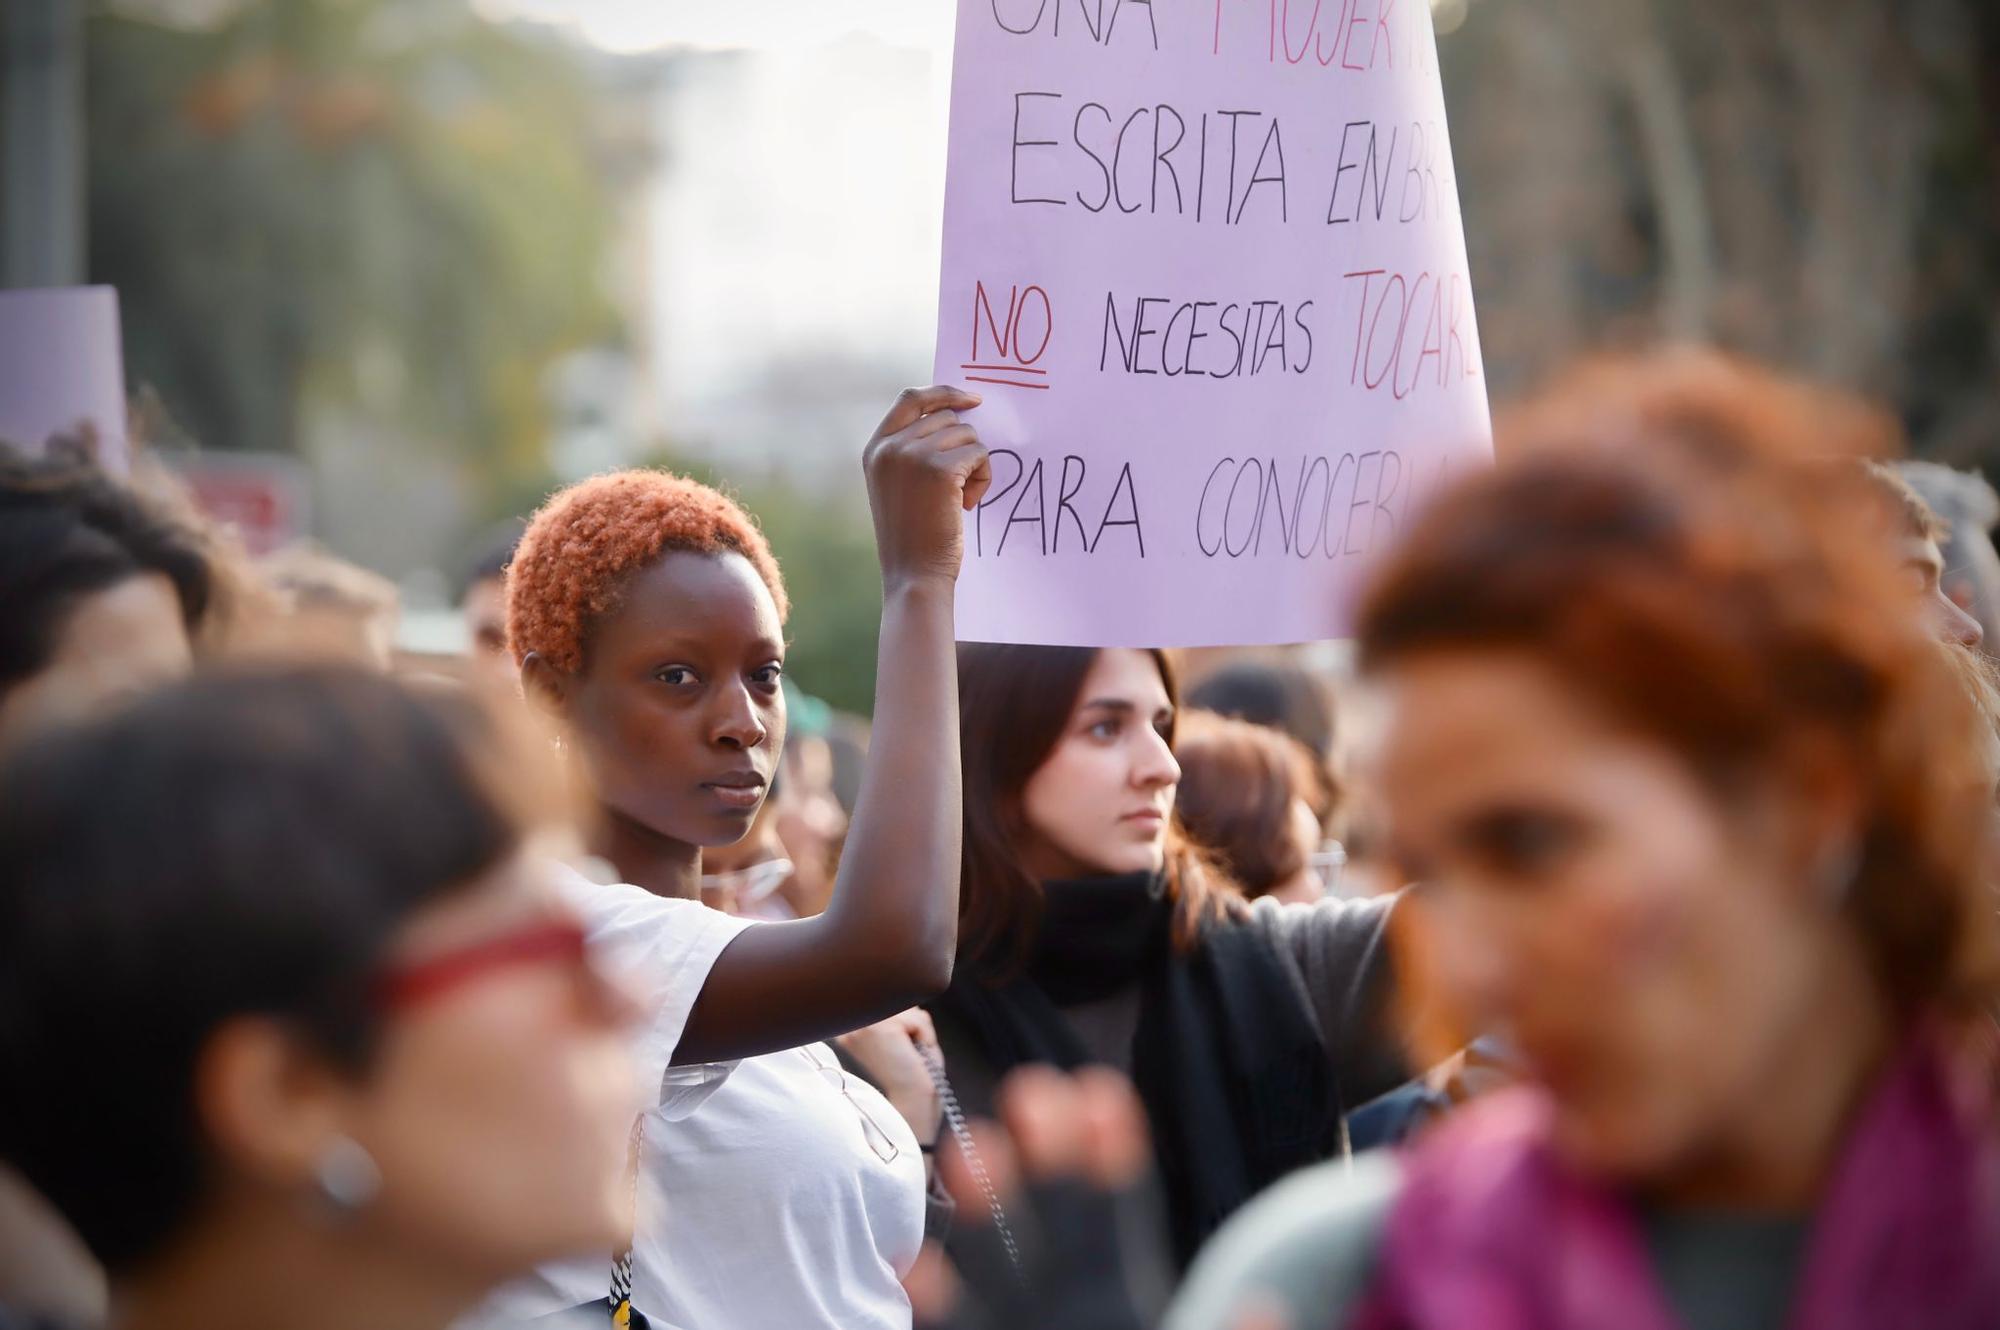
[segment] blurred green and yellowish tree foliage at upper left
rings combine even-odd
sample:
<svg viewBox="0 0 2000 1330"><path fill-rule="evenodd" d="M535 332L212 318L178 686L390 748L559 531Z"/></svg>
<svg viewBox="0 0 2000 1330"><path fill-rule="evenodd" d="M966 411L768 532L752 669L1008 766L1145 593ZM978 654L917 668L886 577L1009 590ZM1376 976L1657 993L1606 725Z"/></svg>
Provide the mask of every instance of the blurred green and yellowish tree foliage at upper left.
<svg viewBox="0 0 2000 1330"><path fill-rule="evenodd" d="M88 98L92 280L200 446L292 452L328 408L426 440L484 504L546 474L548 364L618 338L576 52L462 0L194 26L124 0L90 14Z"/></svg>

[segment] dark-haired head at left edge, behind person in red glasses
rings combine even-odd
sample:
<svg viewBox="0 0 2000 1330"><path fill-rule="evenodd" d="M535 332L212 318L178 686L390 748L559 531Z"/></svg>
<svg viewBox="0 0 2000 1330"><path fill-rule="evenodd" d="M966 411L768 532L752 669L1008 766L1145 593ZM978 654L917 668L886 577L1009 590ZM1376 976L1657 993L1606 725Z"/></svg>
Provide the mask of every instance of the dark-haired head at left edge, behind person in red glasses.
<svg viewBox="0 0 2000 1330"><path fill-rule="evenodd" d="M0 448L0 746L192 666L196 532L74 458Z"/></svg>

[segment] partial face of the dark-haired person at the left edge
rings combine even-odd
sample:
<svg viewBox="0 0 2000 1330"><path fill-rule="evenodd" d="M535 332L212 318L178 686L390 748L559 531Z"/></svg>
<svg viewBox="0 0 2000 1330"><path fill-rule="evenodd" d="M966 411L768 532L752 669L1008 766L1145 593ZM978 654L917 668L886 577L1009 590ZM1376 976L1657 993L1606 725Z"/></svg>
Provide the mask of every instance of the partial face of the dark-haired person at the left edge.
<svg viewBox="0 0 2000 1330"><path fill-rule="evenodd" d="M70 608L48 664L0 698L0 744L168 684L192 666L180 592L166 574L114 582Z"/></svg>

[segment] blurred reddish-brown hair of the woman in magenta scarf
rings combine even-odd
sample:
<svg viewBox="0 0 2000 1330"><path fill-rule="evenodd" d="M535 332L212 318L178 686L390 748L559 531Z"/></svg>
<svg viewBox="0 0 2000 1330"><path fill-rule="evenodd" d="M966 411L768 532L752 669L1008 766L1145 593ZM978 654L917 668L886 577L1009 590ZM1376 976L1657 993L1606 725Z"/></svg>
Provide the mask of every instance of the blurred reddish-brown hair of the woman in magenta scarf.
<svg viewBox="0 0 2000 1330"><path fill-rule="evenodd" d="M1718 356L1590 364L1416 522L1362 604L1362 668L1524 652L1724 798L1848 776L1846 902L1884 994L1970 1012L2000 972L1970 700L1854 486L1802 484L1878 438L1862 418Z"/></svg>

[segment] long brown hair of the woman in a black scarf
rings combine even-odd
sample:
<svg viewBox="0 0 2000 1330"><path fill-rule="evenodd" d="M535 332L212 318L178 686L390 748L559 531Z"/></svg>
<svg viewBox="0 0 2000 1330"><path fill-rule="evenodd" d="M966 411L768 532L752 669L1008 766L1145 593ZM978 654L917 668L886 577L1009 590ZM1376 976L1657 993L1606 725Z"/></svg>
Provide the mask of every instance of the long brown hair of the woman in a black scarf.
<svg viewBox="0 0 2000 1330"><path fill-rule="evenodd" d="M1168 700L1180 706L1180 674L1166 652L1160 666ZM1028 822L1022 790L1062 740L1094 646L958 646L958 736L964 762L966 838L958 878L958 954L1010 970L1026 958L1042 914L1042 884L1022 862ZM1174 730L1168 730L1168 744ZM1236 886L1188 844L1178 818L1166 834L1166 894L1174 902L1174 944L1192 948L1206 920L1240 902Z"/></svg>

